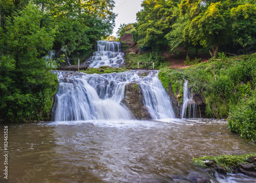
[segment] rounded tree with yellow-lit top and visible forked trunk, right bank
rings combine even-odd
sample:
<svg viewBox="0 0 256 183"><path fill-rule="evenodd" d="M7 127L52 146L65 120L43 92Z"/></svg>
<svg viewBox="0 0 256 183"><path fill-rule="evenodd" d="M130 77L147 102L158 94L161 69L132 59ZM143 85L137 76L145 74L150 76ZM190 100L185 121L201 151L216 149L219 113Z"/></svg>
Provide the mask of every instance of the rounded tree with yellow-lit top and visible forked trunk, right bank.
<svg viewBox="0 0 256 183"><path fill-rule="evenodd" d="M226 43L230 35L224 6L221 2L211 3L206 11L195 16L187 26L191 41L194 44L199 41L214 58L218 56L219 45Z"/></svg>

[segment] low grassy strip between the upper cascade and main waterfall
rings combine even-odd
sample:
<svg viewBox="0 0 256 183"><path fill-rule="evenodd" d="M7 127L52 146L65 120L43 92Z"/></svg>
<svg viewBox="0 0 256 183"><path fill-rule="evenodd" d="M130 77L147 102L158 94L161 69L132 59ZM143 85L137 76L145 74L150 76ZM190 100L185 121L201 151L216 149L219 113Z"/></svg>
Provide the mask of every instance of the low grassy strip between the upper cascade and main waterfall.
<svg viewBox="0 0 256 183"><path fill-rule="evenodd" d="M108 74L113 72L119 73L119 72L125 72L125 71L129 71L129 69L101 66L99 68L88 68L87 70L81 70L80 72L87 73L87 74Z"/></svg>

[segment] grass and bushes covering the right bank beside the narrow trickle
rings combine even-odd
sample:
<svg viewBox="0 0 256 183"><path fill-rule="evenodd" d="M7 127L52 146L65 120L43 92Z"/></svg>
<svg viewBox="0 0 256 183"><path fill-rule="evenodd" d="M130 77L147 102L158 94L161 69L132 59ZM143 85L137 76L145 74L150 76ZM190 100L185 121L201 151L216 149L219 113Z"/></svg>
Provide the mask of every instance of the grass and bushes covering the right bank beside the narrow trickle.
<svg viewBox="0 0 256 183"><path fill-rule="evenodd" d="M219 59L196 64L182 70L161 69L159 79L174 93L189 81L193 93L203 93L208 118L228 118L231 132L256 142L256 54Z"/></svg>

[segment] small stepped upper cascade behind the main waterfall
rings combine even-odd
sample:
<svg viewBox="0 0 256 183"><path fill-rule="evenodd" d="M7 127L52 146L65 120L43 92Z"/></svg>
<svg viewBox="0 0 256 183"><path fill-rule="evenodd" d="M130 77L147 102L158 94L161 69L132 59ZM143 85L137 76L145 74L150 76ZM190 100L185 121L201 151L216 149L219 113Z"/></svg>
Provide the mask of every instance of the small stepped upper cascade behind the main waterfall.
<svg viewBox="0 0 256 183"><path fill-rule="evenodd" d="M93 53L93 56L88 59L89 67L121 67L124 62L124 53L121 51L120 42L97 41L98 51Z"/></svg>

